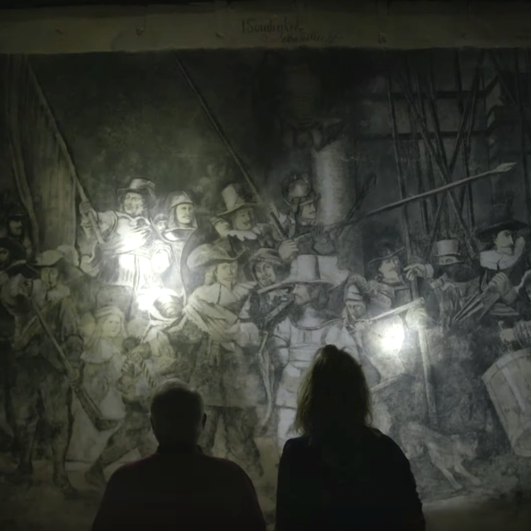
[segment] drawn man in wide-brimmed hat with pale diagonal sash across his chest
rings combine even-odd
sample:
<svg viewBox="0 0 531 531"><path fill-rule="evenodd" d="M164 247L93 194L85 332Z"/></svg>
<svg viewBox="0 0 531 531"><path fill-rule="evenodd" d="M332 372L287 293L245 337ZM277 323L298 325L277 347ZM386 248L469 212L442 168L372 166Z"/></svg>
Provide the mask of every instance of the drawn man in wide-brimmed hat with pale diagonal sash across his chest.
<svg viewBox="0 0 531 531"><path fill-rule="evenodd" d="M213 244L202 244L190 253L188 266L204 272L203 285L188 298L183 319L169 331L179 350L193 353L190 385L200 392L207 410L201 445L212 453L222 418L229 455L242 462L251 476L263 470L253 434L256 408L265 404L256 350L255 324L242 322L239 313L256 282L238 282L238 256Z"/></svg>

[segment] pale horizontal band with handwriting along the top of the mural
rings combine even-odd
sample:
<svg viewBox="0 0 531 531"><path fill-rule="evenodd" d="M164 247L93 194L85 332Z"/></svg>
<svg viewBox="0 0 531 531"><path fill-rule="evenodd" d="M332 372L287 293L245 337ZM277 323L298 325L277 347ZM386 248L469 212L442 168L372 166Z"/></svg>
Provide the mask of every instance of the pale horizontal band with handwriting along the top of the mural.
<svg viewBox="0 0 531 531"><path fill-rule="evenodd" d="M211 1L0 11L0 53L529 47L523 1Z"/></svg>

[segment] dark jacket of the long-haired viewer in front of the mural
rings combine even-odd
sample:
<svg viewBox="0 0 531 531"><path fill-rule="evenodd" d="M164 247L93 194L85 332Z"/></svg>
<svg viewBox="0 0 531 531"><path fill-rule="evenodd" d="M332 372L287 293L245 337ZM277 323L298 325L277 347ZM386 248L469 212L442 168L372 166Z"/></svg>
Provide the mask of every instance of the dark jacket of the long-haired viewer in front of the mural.
<svg viewBox="0 0 531 531"><path fill-rule="evenodd" d="M278 468L276 531L423 531L422 504L398 445L365 429L355 450L331 464L322 447L286 442Z"/></svg>

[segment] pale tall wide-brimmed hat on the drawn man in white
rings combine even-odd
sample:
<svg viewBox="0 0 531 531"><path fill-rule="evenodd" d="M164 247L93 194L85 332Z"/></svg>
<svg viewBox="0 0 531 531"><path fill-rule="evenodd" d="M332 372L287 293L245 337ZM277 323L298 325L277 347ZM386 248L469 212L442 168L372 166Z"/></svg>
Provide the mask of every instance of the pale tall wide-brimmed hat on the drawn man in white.
<svg viewBox="0 0 531 531"><path fill-rule="evenodd" d="M290 264L290 274L282 282L263 287L258 293L295 284L326 284L337 287L347 280L348 270L338 268L337 256L299 254Z"/></svg>

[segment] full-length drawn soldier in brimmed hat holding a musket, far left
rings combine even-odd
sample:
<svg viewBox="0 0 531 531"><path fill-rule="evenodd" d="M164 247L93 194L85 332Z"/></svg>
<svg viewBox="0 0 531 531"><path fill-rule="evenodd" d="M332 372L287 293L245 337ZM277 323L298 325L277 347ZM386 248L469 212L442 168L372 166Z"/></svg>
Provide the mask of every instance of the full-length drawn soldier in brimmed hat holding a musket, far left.
<svg viewBox="0 0 531 531"><path fill-rule="evenodd" d="M39 280L32 283L19 274L1 291L4 306L18 318L11 365L15 374L10 389L19 449L19 464L13 480L32 481L32 450L41 420L50 430L54 484L66 496L72 496L75 491L64 468L64 459L69 445L71 388L80 384L83 339L67 282L79 278L82 273L69 265L59 251L45 251L32 267L40 272ZM32 311L30 300L40 308L48 331ZM54 341L67 358L70 370L58 355Z"/></svg>

